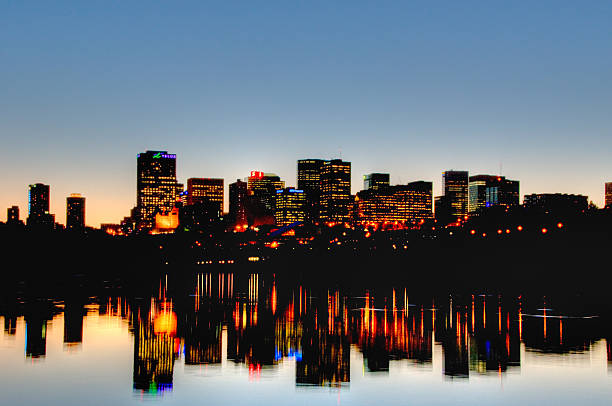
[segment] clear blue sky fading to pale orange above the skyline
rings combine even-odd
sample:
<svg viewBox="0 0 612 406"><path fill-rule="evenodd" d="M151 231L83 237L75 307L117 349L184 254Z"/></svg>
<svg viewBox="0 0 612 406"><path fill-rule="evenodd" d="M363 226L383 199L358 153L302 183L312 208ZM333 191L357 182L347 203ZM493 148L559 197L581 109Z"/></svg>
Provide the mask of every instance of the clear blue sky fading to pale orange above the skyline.
<svg viewBox="0 0 612 406"><path fill-rule="evenodd" d="M55 3L55 4L54 4ZM0 206L135 203L136 154L180 181L342 157L394 183L499 173L603 203L612 180L612 2L4 1ZM5 212L0 215L3 219Z"/></svg>

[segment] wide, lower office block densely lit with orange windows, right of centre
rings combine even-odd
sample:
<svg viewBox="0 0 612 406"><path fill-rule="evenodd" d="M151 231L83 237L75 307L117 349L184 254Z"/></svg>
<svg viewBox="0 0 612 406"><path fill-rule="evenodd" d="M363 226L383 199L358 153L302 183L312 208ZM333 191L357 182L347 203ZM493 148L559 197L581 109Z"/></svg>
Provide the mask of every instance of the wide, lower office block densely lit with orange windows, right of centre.
<svg viewBox="0 0 612 406"><path fill-rule="evenodd" d="M432 183L412 182L407 185L368 189L355 197L355 222L407 223L433 218Z"/></svg>

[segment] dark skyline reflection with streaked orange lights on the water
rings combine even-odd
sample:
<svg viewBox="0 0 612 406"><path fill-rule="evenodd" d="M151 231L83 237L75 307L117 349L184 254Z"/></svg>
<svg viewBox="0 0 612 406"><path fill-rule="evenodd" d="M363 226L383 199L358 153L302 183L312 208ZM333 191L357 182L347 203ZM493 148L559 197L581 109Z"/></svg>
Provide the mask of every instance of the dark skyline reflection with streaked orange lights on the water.
<svg viewBox="0 0 612 406"><path fill-rule="evenodd" d="M409 291L322 290L282 285L274 275L203 273L177 286L162 278L152 297L5 306L3 338L23 328L25 357L42 359L55 315L63 316L68 351L87 344L92 312L120 318L133 335L133 389L154 395L173 390L179 360L187 369L230 362L255 380L290 363L295 386L335 388L349 387L356 359L365 375L389 375L398 364L440 365L438 373L450 381L518 372L526 360L542 356L554 362L592 356L596 347L605 348L604 362L612 360L601 320L571 314L571 306L556 310L546 299L476 294L412 300ZM355 351L359 358L351 356Z"/></svg>

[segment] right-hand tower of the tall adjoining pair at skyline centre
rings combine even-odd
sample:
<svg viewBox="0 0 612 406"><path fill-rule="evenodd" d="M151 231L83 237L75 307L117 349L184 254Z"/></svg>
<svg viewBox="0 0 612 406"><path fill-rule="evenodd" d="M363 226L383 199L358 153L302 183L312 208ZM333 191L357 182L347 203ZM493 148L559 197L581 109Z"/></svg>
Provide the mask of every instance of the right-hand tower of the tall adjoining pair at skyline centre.
<svg viewBox="0 0 612 406"><path fill-rule="evenodd" d="M321 168L321 220L348 222L351 218L351 163L325 161Z"/></svg>

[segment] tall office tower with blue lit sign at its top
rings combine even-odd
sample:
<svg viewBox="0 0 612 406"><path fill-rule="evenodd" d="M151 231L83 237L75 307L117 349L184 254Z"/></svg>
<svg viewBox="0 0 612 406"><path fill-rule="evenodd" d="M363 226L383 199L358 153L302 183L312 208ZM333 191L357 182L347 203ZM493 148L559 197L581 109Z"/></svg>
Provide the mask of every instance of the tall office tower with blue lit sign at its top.
<svg viewBox="0 0 612 406"><path fill-rule="evenodd" d="M139 230L152 228L155 213L172 210L183 187L176 181L176 155L147 151L137 159L136 217Z"/></svg>

